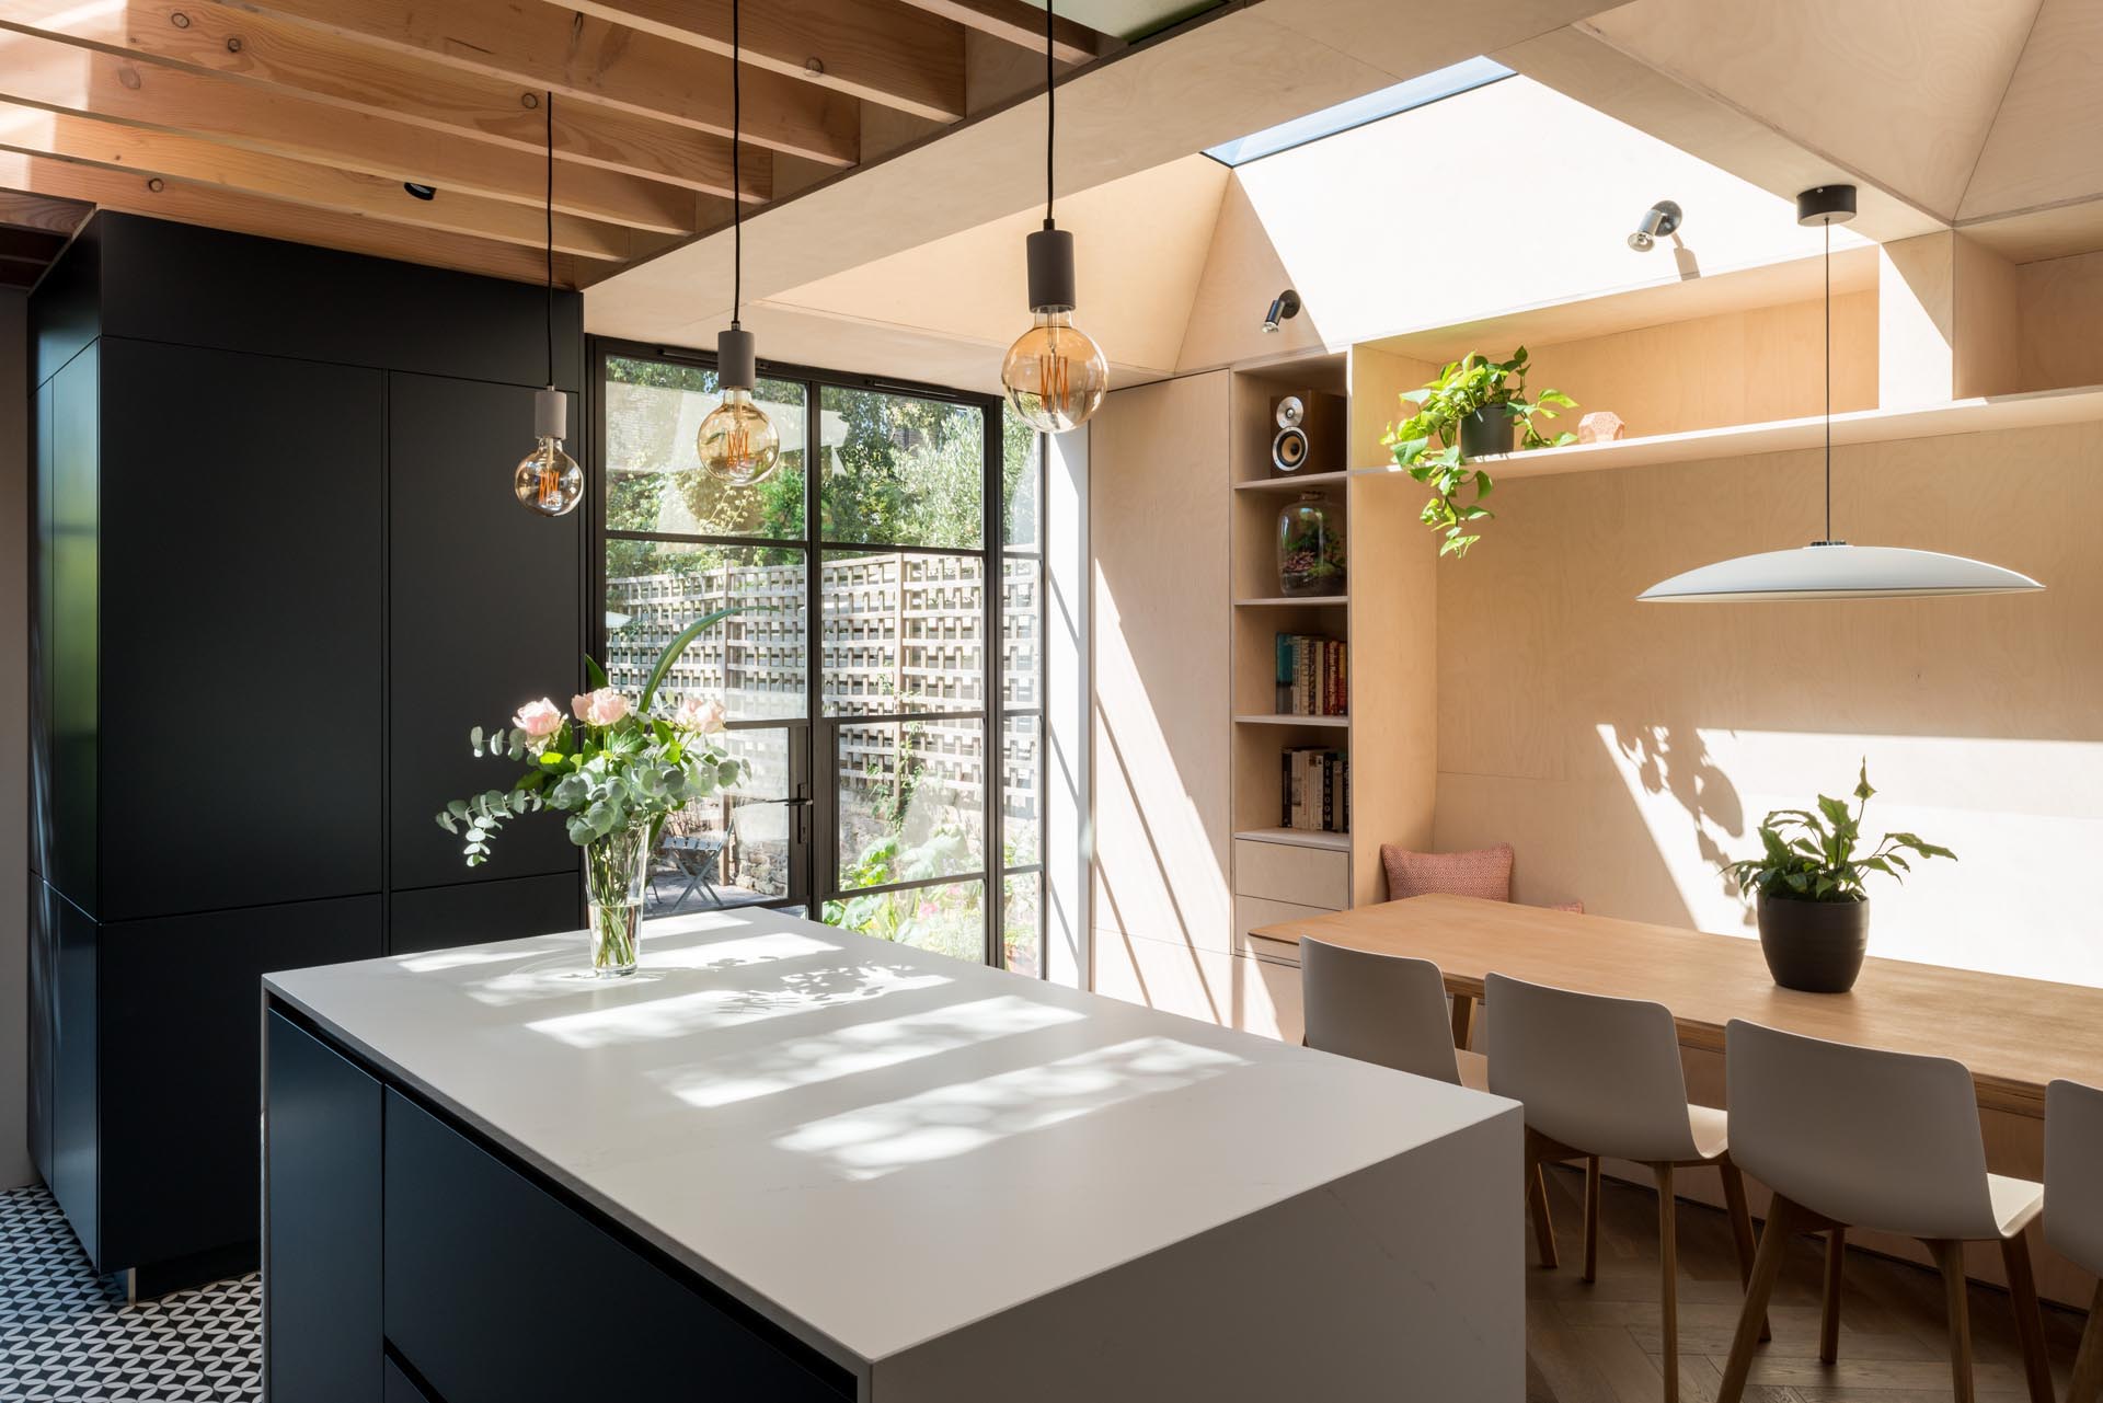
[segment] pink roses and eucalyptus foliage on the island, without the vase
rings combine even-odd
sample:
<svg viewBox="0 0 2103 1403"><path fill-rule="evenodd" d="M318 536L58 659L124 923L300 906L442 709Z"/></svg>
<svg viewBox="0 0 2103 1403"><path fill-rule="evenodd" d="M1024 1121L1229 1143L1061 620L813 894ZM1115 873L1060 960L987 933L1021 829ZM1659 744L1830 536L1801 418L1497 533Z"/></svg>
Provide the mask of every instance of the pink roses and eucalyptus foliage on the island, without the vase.
<svg viewBox="0 0 2103 1403"><path fill-rule="evenodd" d="M463 839L467 865L482 867L490 858L490 839L509 820L540 810L568 814L570 841L578 848L648 822L656 850L669 814L736 785L744 761L732 759L677 713L654 711L656 686L688 644L734 612L707 614L667 644L650 669L641 707L612 724L564 717L538 738L517 726L522 717L488 734L475 726L467 736L475 757L526 761L528 768L509 789L486 789L437 812L437 827ZM606 669L595 658L585 658L585 675L593 688L606 688Z"/></svg>

